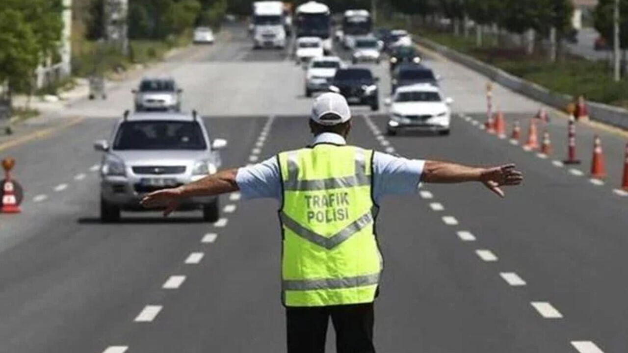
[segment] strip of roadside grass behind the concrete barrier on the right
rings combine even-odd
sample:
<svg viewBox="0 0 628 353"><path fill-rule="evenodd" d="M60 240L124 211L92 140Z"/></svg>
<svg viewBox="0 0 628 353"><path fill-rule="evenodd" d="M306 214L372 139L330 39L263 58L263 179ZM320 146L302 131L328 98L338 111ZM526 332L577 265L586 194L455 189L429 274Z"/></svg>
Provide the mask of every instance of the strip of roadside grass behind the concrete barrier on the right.
<svg viewBox="0 0 628 353"><path fill-rule="evenodd" d="M492 46L492 38L484 38L485 46L477 47L474 36L464 38L425 29L414 33L549 90L574 97L582 94L587 100L628 108L628 81L614 82L606 62L561 55L552 63L546 53L527 55L520 47Z"/></svg>

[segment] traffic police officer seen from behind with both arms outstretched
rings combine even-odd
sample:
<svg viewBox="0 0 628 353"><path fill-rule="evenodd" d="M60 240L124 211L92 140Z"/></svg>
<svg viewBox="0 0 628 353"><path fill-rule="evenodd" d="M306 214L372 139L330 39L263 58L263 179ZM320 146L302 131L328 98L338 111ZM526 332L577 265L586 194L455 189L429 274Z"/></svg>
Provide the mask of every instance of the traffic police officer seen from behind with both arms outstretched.
<svg viewBox="0 0 628 353"><path fill-rule="evenodd" d="M514 165L475 168L348 146L350 128L344 97L322 94L311 112L310 146L142 200L147 207L166 207L165 215L183 198L237 190L244 198L279 200L289 353L323 353L330 317L338 353L375 351L373 302L383 263L374 220L382 196L416 193L421 182L474 181L503 197L501 185L522 181Z"/></svg>

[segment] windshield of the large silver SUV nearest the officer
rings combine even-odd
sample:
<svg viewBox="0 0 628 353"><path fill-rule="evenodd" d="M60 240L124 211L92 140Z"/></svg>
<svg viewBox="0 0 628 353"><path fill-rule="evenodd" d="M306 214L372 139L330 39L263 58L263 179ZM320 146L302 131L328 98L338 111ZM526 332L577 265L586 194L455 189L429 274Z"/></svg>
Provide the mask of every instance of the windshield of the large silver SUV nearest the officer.
<svg viewBox="0 0 628 353"><path fill-rule="evenodd" d="M125 121L116 133L113 147L119 151L206 148L203 131L195 121Z"/></svg>

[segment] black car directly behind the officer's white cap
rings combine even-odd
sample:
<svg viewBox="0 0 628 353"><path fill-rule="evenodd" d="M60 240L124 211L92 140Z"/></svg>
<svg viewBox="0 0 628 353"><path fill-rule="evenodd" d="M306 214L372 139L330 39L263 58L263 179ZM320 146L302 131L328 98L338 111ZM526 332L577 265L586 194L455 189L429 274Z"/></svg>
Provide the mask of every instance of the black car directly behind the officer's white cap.
<svg viewBox="0 0 628 353"><path fill-rule="evenodd" d="M341 68L333 77L330 90L344 95L350 105L370 106L379 109L379 79L368 68Z"/></svg>

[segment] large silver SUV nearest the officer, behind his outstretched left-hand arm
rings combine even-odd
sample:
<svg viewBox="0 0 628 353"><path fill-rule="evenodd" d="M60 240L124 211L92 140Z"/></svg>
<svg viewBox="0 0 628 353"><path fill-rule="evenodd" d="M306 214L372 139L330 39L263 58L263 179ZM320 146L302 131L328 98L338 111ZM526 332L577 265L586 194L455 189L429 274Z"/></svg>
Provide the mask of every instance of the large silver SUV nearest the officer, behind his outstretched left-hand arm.
<svg viewBox="0 0 628 353"><path fill-rule="evenodd" d="M121 210L143 210L139 200L149 192L178 187L213 174L222 164L224 139L209 138L202 119L192 114L124 113L111 140L95 141L103 153L100 165L100 219L116 222ZM219 218L217 197L195 197L179 210L202 209L203 220Z"/></svg>

